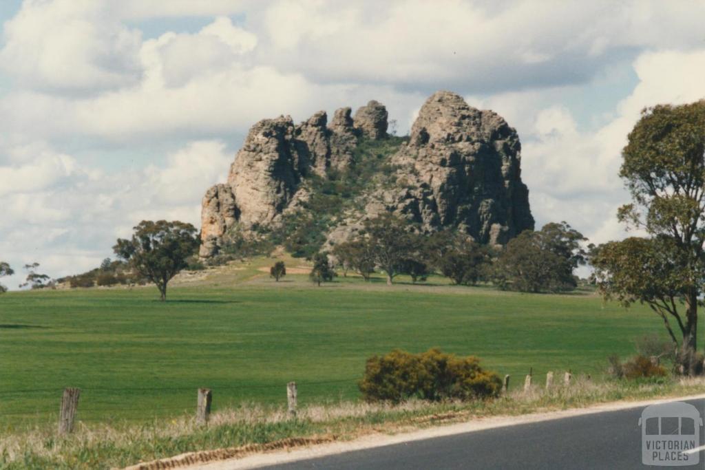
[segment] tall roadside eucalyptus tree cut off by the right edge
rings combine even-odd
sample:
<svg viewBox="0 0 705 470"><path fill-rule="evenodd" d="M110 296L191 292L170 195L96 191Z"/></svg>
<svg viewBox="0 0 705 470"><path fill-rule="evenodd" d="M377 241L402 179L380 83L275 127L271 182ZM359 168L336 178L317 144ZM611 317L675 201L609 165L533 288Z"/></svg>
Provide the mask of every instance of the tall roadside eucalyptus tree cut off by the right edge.
<svg viewBox="0 0 705 470"><path fill-rule="evenodd" d="M600 247L592 260L596 280L607 298L648 304L676 343L669 322L678 325L679 361L692 375L705 270L705 100L644 109L622 156L620 176L632 204L618 218L644 230L649 241Z"/></svg>

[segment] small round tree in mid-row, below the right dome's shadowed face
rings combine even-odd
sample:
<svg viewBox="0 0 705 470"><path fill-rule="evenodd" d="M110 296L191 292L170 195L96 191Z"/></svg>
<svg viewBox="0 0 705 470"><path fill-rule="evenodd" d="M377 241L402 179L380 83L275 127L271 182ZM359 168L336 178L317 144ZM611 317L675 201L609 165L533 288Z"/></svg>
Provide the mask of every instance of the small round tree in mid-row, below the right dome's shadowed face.
<svg viewBox="0 0 705 470"><path fill-rule="evenodd" d="M455 284L475 285L486 277L490 262L489 249L468 237L458 235L436 261L443 276Z"/></svg>

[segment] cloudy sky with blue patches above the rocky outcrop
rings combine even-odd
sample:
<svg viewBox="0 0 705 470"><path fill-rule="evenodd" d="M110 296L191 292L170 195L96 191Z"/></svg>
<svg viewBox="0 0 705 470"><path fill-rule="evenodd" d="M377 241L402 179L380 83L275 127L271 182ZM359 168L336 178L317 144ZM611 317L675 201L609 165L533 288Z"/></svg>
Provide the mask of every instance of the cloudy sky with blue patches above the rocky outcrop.
<svg viewBox="0 0 705 470"><path fill-rule="evenodd" d="M620 151L705 97L705 0L2 0L0 260L87 271L142 219L200 225L247 130L439 89L517 129L537 226L625 236Z"/></svg>

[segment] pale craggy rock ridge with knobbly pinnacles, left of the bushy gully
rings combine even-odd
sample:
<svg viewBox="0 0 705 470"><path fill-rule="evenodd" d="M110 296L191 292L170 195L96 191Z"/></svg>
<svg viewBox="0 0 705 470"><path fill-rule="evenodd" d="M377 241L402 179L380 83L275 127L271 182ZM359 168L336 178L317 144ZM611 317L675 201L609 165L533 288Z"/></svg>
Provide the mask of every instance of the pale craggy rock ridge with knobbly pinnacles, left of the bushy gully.
<svg viewBox="0 0 705 470"><path fill-rule="evenodd" d="M370 101L358 110L360 128L351 113L350 108L338 109L330 125L325 111L299 125L289 116L253 125L235 156L228 184L211 187L203 199L200 256L216 254L223 236L236 224L251 232L277 223L286 209L307 198L302 180L353 165L360 138L386 137L383 105Z"/></svg>

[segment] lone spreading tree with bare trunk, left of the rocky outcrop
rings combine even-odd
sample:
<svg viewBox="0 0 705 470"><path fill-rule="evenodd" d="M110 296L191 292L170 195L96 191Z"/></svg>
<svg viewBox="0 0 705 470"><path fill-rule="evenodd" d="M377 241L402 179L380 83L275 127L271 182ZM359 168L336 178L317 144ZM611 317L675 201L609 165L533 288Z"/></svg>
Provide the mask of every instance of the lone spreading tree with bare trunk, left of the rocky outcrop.
<svg viewBox="0 0 705 470"><path fill-rule="evenodd" d="M198 248L196 233L190 223L142 221L132 238L118 239L113 250L140 278L157 285L164 301L167 283L188 266L186 260Z"/></svg>

